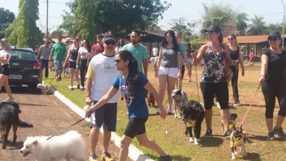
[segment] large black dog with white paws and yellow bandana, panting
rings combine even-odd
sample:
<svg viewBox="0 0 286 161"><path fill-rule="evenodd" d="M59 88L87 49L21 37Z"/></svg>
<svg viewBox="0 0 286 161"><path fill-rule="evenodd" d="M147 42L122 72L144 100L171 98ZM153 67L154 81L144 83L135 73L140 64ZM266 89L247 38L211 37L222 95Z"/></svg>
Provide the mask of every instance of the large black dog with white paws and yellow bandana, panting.
<svg viewBox="0 0 286 161"><path fill-rule="evenodd" d="M190 136L190 143L198 145L198 139L200 138L200 131L203 119L205 117L205 112L203 111L203 103L198 101L190 100L181 109L183 113L182 120L186 124L185 136ZM192 128L194 128L195 141L193 140Z"/></svg>

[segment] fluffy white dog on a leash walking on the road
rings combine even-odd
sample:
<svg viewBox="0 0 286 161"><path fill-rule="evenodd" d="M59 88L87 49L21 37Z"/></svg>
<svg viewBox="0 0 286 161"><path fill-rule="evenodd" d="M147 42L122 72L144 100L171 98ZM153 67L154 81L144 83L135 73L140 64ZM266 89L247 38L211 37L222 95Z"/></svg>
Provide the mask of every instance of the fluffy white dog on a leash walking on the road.
<svg viewBox="0 0 286 161"><path fill-rule="evenodd" d="M69 131L49 140L47 138L48 136L27 137L20 150L23 157L30 154L36 161L86 161L86 144L77 131Z"/></svg>

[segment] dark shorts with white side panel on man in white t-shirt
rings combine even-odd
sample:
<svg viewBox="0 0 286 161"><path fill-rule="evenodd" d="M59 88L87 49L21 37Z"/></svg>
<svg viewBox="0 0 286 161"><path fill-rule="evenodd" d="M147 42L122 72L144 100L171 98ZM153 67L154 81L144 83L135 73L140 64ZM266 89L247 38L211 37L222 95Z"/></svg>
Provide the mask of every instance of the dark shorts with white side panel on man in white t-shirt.
<svg viewBox="0 0 286 161"><path fill-rule="evenodd" d="M98 101L94 101L96 104ZM103 129L108 131L116 131L117 122L117 103L106 103L101 106L90 117L90 127L102 126Z"/></svg>

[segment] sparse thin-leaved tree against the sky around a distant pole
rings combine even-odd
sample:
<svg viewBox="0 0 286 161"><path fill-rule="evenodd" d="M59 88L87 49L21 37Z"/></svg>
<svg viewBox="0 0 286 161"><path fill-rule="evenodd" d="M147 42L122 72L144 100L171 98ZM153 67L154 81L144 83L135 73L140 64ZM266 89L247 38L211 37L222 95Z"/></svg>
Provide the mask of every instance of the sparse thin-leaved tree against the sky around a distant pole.
<svg viewBox="0 0 286 161"><path fill-rule="evenodd" d="M187 23L186 24L186 18L180 18L180 19L172 19L172 23L169 23L171 25L171 30L174 32L178 32L182 34L185 32L188 35L192 35L192 28L196 27L196 23Z"/></svg>

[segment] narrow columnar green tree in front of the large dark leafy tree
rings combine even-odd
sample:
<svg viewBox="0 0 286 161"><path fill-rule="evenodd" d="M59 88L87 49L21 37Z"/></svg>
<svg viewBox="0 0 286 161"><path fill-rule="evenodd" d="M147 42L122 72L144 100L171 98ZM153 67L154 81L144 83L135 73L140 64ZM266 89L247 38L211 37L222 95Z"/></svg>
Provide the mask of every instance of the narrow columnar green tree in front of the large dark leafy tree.
<svg viewBox="0 0 286 161"><path fill-rule="evenodd" d="M78 0L74 14L77 20L76 32L82 38L94 42L94 0Z"/></svg>

